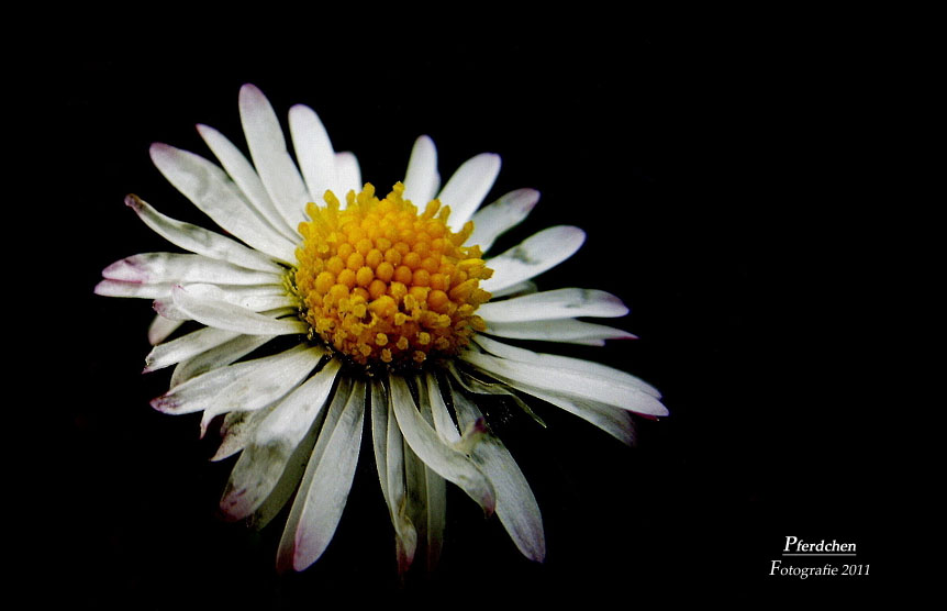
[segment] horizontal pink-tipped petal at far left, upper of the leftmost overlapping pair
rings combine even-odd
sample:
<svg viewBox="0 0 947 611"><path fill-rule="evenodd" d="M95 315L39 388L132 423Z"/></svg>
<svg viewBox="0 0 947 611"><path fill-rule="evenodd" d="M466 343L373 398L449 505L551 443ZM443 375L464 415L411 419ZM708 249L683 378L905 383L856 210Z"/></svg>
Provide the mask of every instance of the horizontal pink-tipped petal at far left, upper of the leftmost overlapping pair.
<svg viewBox="0 0 947 611"><path fill-rule="evenodd" d="M143 253L116 260L102 277L121 282L211 282L218 285L281 285L282 275L257 271L203 255Z"/></svg>

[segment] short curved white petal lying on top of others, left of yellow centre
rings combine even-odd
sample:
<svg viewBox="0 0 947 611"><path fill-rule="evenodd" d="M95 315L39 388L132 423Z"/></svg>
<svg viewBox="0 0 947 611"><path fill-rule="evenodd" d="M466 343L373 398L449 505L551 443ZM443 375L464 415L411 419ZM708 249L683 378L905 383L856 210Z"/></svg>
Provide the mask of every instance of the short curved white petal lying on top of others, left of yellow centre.
<svg viewBox="0 0 947 611"><path fill-rule="evenodd" d="M216 329L246 335L291 335L309 329L299 319L272 319L223 300L191 295L182 287L175 287L171 297L175 306L193 320Z"/></svg>

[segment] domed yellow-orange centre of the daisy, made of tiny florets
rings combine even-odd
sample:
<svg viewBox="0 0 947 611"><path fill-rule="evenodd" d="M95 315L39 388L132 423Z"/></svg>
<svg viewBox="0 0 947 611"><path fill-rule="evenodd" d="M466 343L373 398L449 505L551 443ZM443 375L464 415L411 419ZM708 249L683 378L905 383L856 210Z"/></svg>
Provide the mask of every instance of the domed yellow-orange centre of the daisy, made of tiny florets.
<svg viewBox="0 0 947 611"><path fill-rule="evenodd" d="M493 271L479 246L461 246L473 223L454 233L448 207L433 200L419 213L403 192L399 182L379 200L366 185L343 210L326 191L299 225L294 286L310 338L366 367L420 366L484 329L473 311L490 299L479 282Z"/></svg>

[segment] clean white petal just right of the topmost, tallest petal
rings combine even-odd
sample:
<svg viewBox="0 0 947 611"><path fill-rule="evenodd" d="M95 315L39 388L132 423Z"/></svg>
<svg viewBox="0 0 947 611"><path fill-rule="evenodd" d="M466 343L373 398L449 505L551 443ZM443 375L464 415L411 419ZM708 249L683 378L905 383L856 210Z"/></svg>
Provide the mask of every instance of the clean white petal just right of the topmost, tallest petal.
<svg viewBox="0 0 947 611"><path fill-rule="evenodd" d="M321 202L325 191L335 189L338 184L335 151L328 133L315 111L301 104L289 109L289 131L309 195Z"/></svg>

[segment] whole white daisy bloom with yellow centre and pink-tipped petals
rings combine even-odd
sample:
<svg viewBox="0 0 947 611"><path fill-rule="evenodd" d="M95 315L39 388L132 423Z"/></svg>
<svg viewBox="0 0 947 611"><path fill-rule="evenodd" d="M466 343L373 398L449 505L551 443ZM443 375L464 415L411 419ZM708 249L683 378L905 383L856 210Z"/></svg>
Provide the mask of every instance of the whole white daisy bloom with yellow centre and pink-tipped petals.
<svg viewBox="0 0 947 611"><path fill-rule="evenodd" d="M205 125L199 133L220 165L151 147L158 170L223 232L129 196L141 220L187 254L121 259L96 287L154 300L145 370L172 373L152 404L200 412L202 436L219 425L214 459L239 454L223 513L263 526L289 506L277 566L307 568L336 530L367 427L400 570L420 556L436 562L448 481L543 560L539 508L478 400L502 396L532 414L523 397L534 397L625 443L632 412L667 414L658 391L630 374L510 343L632 337L580 320L626 314L617 297L532 281L573 255L584 233L553 226L488 256L539 198L521 189L481 207L499 156L472 157L442 186L436 149L422 136L403 181L380 197L363 185L356 157L333 149L312 109L290 109L294 158L252 85L239 91L239 115L249 159Z"/></svg>

